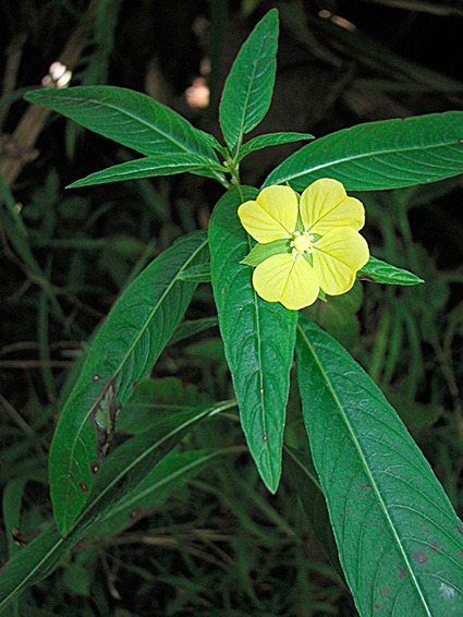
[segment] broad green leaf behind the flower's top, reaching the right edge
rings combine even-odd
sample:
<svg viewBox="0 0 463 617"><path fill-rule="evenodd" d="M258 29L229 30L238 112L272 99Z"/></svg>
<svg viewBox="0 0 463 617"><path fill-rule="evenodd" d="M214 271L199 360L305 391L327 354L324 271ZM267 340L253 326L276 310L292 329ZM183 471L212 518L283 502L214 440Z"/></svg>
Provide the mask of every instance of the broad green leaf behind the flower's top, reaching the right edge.
<svg viewBox="0 0 463 617"><path fill-rule="evenodd" d="M348 191L435 182L463 172L462 135L461 111L358 124L304 146L263 186L288 182L303 191L318 178L340 180Z"/></svg>

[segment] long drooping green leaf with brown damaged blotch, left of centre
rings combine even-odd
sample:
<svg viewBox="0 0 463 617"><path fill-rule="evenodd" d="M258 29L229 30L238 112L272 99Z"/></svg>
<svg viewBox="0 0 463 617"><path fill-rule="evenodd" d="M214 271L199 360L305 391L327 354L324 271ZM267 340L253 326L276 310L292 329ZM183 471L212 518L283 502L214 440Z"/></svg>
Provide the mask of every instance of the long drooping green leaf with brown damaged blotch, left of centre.
<svg viewBox="0 0 463 617"><path fill-rule="evenodd" d="M179 276L207 259L205 232L180 239L132 282L99 329L50 450L51 498L63 535L88 497L119 410L156 362L192 299L196 285Z"/></svg>

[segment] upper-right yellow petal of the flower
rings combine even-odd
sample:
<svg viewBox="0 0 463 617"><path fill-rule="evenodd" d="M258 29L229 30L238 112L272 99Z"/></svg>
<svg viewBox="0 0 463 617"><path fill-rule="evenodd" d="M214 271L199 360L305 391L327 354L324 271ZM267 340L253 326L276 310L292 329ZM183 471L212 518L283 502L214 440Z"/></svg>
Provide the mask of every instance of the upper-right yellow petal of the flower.
<svg viewBox="0 0 463 617"><path fill-rule="evenodd" d="M362 202L348 197L338 180L316 180L301 195L300 207L304 229L310 233L322 235L336 227L352 227L358 231L365 225Z"/></svg>

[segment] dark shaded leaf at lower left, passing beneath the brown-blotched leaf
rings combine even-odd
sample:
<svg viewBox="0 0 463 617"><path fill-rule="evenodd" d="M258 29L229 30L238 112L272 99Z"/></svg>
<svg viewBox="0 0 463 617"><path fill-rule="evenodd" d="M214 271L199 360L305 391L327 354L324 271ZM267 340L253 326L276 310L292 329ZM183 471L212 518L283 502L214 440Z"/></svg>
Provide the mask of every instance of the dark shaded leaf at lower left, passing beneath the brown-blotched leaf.
<svg viewBox="0 0 463 617"><path fill-rule="evenodd" d="M143 486L148 474L160 487L169 480L162 465L158 474L155 471L163 457L199 422L234 406L234 402L226 401L210 408L198 409L187 421L173 423L169 433L162 433L162 427L157 426L137 435L111 452L103 461L89 499L78 519L72 523L68 536L63 539L57 525L51 523L36 540L10 559L0 574L0 610L27 586L36 584L50 574L63 555L86 534L90 534L95 525L103 524L110 521L113 515L118 515L121 503L130 504L131 497L136 495L135 488ZM235 448L228 448L222 450L222 453L232 453L234 450ZM212 456L210 460L214 460ZM129 476L133 484L126 481ZM181 482L181 476L178 479Z"/></svg>

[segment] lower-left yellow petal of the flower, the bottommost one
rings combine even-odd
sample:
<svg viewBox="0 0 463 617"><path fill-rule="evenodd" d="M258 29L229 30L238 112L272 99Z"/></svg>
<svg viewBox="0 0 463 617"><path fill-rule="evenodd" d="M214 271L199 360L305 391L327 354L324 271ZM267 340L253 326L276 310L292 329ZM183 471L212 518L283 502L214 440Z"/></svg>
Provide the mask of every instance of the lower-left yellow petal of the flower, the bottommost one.
<svg viewBox="0 0 463 617"><path fill-rule="evenodd" d="M291 311L313 304L320 289L314 268L302 255L273 255L257 266L254 289L267 302L281 302Z"/></svg>

